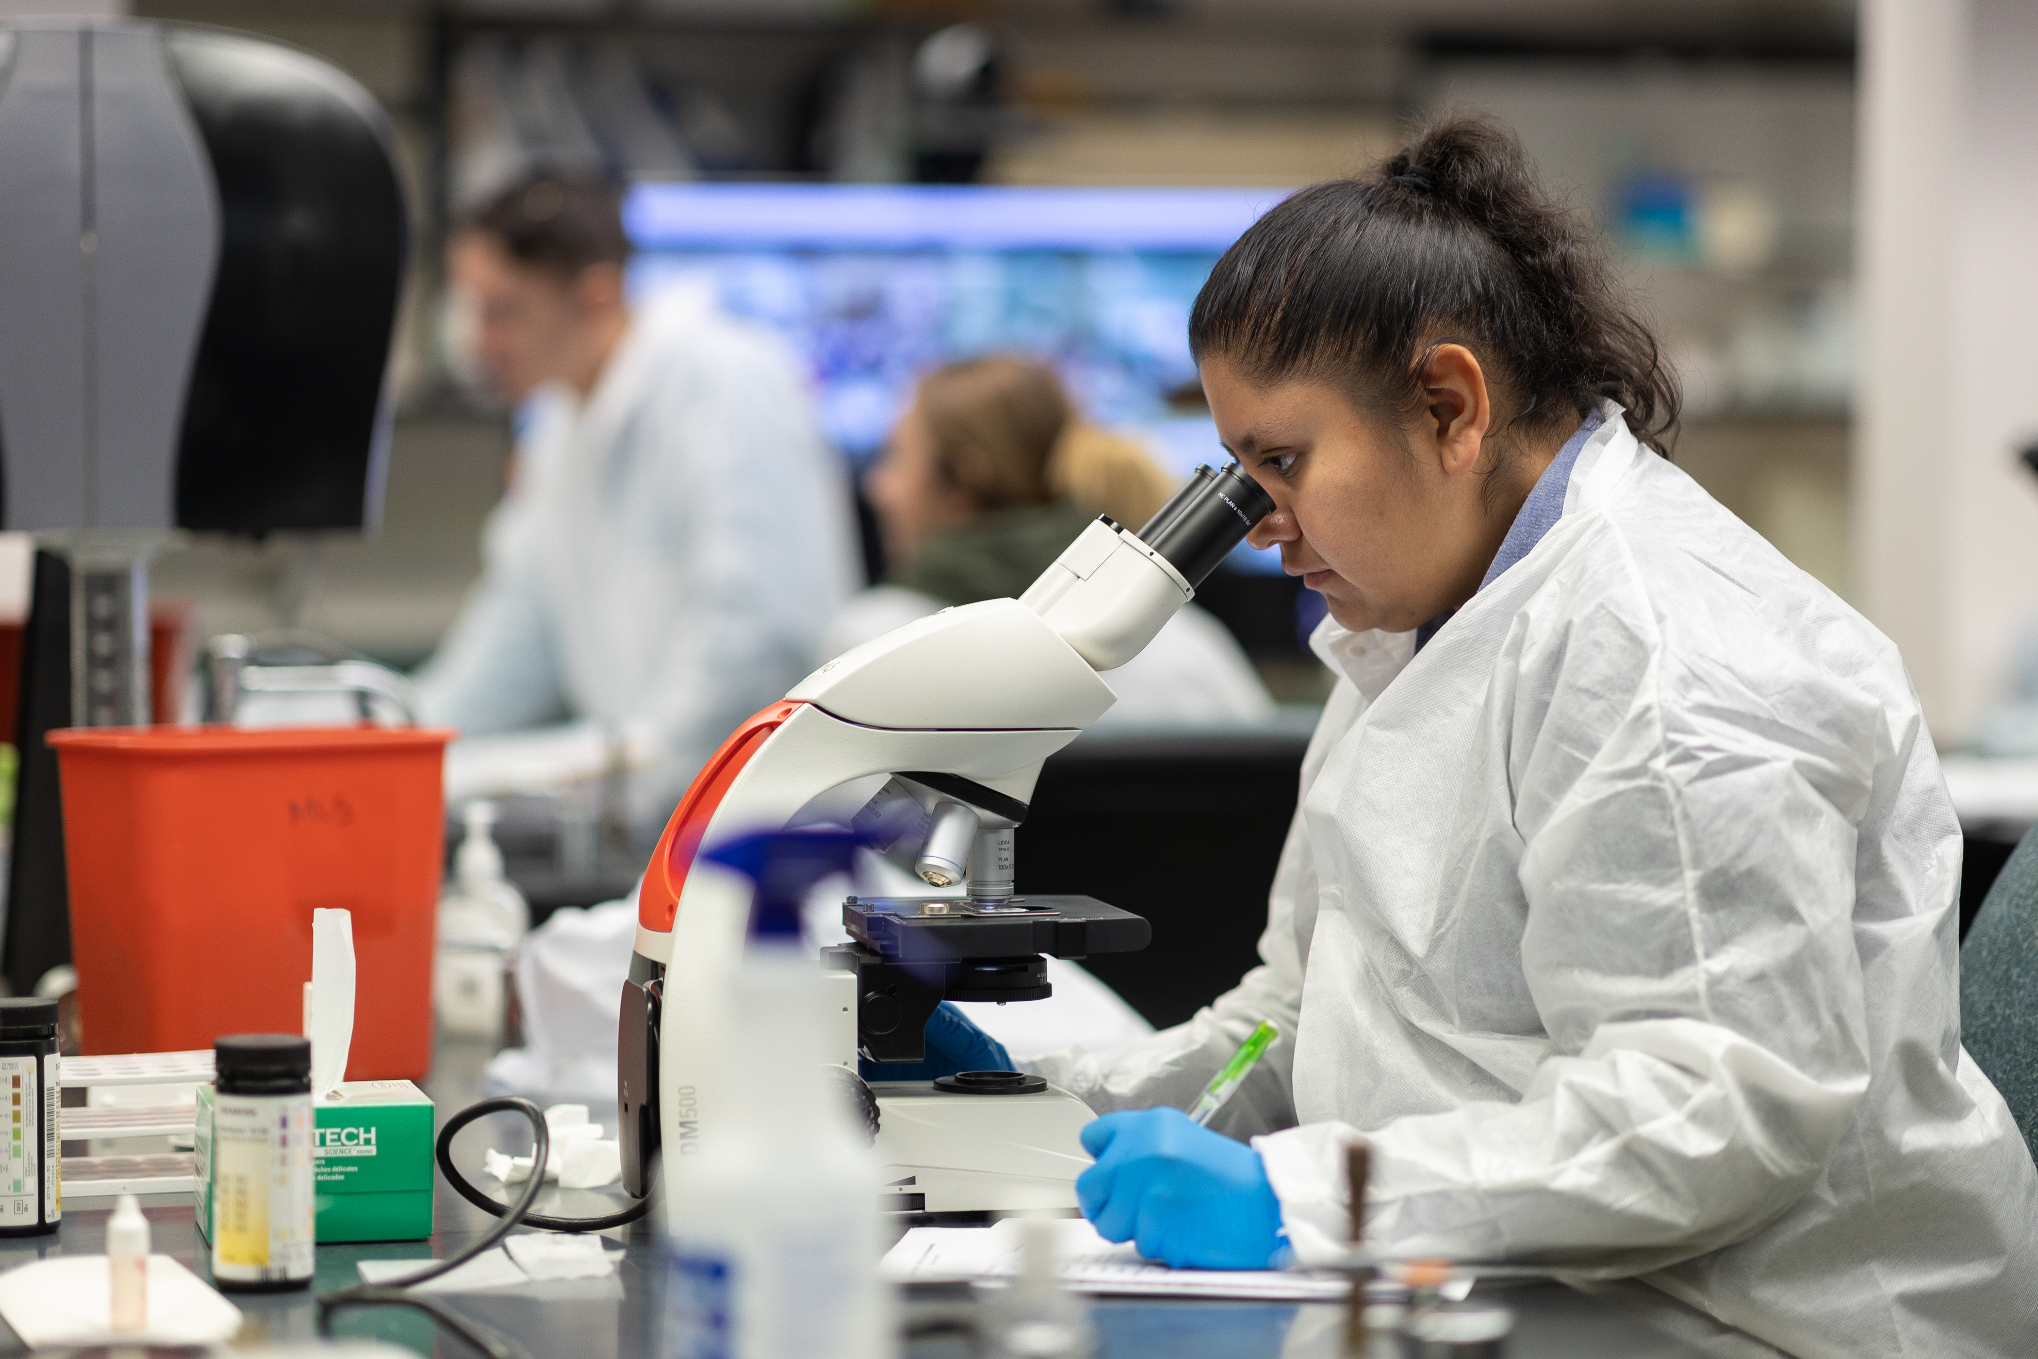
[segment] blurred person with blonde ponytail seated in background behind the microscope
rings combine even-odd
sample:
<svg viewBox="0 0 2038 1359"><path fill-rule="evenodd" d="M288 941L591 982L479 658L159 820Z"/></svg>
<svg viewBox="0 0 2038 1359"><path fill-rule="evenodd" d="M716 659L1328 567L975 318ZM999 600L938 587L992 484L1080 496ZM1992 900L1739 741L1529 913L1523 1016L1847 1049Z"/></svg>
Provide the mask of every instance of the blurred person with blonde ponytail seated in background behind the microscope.
<svg viewBox="0 0 2038 1359"><path fill-rule="evenodd" d="M1054 371L993 355L919 381L864 489L891 566L842 607L817 660L950 605L1019 597L1092 518L1137 530L1176 481L1139 444L1084 424ZM1105 681L1119 701L1101 727L1274 715L1237 640L1196 605Z"/></svg>

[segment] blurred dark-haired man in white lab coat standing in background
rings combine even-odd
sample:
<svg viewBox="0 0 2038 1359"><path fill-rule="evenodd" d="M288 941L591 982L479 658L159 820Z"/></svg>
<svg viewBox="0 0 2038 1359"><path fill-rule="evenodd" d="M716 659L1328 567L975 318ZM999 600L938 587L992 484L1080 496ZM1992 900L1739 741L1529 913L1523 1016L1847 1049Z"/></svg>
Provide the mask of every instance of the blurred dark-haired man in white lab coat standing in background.
<svg viewBox="0 0 2038 1359"><path fill-rule="evenodd" d="M595 181L534 177L452 234L467 348L518 440L481 581L418 689L430 721L512 752L593 727L630 752L630 823L656 835L715 746L807 672L854 558L793 355L703 289L630 306L628 257Z"/></svg>

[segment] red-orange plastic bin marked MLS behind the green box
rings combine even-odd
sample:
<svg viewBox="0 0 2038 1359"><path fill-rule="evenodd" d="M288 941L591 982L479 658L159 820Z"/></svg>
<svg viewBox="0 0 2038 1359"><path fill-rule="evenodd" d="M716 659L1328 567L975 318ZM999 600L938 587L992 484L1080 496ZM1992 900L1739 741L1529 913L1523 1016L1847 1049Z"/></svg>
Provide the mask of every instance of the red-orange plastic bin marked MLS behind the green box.
<svg viewBox="0 0 2038 1359"><path fill-rule="evenodd" d="M73 727L63 778L88 1053L298 1033L312 911L355 921L348 1080L432 1066L444 862L436 727Z"/></svg>

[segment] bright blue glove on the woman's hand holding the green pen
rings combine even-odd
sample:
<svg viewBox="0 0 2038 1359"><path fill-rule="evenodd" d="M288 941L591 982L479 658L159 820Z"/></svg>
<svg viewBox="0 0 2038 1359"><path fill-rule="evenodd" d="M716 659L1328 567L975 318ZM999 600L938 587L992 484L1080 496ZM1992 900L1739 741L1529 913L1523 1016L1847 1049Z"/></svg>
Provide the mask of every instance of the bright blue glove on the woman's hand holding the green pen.
<svg viewBox="0 0 2038 1359"><path fill-rule="evenodd" d="M1105 1241L1133 1241L1174 1269L1266 1269L1280 1200L1259 1153L1196 1127L1180 1108L1105 1115L1082 1129L1096 1157L1076 1202Z"/></svg>

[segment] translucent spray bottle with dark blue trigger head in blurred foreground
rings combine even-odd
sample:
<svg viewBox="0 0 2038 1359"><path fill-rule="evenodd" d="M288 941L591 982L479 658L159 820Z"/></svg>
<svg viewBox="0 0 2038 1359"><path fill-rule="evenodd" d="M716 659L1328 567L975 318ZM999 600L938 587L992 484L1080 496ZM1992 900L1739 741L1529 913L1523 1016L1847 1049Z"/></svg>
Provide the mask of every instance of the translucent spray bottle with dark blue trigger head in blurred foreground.
<svg viewBox="0 0 2038 1359"><path fill-rule="evenodd" d="M878 1176L829 1080L829 1000L799 941L807 886L848 866L850 835L756 835L709 852L748 872L756 905L726 978L719 1117L666 1155L668 1355L878 1359L897 1353ZM840 850L840 854L836 854ZM834 860L834 862L832 862ZM666 1143L671 1147L671 1143Z"/></svg>

